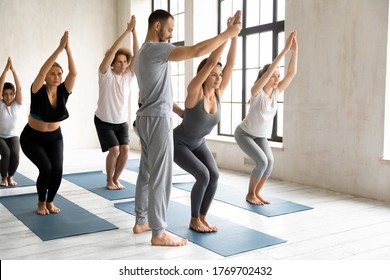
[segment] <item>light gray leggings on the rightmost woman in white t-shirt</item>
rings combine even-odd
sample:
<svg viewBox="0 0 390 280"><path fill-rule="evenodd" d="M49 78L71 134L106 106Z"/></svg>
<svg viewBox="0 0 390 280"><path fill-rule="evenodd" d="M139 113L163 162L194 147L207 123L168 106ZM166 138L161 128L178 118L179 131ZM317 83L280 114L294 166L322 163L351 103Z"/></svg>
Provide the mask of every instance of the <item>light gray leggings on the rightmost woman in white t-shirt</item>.
<svg viewBox="0 0 390 280"><path fill-rule="evenodd" d="M246 133L240 126L234 132L238 146L256 163L252 176L268 178L271 175L274 156L266 137L255 137Z"/></svg>

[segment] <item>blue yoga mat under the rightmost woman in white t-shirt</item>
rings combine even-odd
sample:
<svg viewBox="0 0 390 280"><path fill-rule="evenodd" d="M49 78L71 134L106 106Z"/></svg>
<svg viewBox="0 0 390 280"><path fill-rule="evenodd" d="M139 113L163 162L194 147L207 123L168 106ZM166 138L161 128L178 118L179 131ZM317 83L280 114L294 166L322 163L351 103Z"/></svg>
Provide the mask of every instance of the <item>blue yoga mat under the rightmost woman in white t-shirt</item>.
<svg viewBox="0 0 390 280"><path fill-rule="evenodd" d="M191 191L194 183L174 183L173 186L182 190ZM275 197L267 197L271 204L253 205L245 200L246 189L238 189L232 186L219 184L215 199L241 207L267 217L290 214L294 212L313 209L309 206L294 203Z"/></svg>

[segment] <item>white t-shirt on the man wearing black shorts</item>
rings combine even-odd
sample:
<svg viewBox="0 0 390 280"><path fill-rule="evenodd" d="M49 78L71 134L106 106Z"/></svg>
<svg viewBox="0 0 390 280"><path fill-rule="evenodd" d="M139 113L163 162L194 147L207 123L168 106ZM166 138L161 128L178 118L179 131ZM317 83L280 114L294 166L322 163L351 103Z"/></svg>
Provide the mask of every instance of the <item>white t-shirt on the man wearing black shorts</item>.
<svg viewBox="0 0 390 280"><path fill-rule="evenodd" d="M128 102L131 91L130 70L116 75L112 69L99 71L99 99L95 115L102 121L120 124L128 121Z"/></svg>

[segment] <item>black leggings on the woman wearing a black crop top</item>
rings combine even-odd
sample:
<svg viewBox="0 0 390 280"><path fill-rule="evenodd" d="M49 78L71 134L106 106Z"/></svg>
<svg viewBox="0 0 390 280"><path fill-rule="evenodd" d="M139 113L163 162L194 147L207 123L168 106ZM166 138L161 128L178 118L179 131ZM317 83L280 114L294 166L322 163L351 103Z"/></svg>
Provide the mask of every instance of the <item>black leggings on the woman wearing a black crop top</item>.
<svg viewBox="0 0 390 280"><path fill-rule="evenodd" d="M53 202L60 187L63 169L64 142L61 128L40 132L26 125L20 135L24 154L38 167L38 199Z"/></svg>

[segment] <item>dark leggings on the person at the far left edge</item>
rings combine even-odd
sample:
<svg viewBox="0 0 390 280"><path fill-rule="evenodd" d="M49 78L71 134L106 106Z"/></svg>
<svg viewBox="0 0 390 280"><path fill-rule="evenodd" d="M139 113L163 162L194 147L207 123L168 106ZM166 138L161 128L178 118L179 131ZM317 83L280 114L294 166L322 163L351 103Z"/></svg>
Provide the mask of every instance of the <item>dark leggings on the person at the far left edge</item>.
<svg viewBox="0 0 390 280"><path fill-rule="evenodd" d="M12 177L19 166L19 137L0 138L1 177Z"/></svg>

